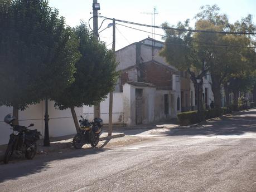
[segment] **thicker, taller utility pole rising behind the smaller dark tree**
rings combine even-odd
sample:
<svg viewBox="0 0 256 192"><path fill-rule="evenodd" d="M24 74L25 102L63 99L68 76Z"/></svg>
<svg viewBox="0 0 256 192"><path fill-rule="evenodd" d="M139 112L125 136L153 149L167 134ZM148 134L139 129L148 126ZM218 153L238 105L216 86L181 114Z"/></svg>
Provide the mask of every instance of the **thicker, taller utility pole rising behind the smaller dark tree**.
<svg viewBox="0 0 256 192"><path fill-rule="evenodd" d="M95 40L99 40L99 32L98 32L98 10L100 10L100 5L97 0L93 0L93 35ZM94 118L100 118L100 103L94 105Z"/></svg>

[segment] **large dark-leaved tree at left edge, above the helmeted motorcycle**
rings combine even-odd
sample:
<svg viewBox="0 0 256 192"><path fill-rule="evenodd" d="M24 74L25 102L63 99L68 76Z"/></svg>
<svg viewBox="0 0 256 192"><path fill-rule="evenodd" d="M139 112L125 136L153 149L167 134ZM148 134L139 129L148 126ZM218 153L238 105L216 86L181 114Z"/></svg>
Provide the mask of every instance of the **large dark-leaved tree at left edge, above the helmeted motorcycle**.
<svg viewBox="0 0 256 192"><path fill-rule="evenodd" d="M18 118L18 110L69 86L77 47L48 1L0 1L0 105L13 106Z"/></svg>

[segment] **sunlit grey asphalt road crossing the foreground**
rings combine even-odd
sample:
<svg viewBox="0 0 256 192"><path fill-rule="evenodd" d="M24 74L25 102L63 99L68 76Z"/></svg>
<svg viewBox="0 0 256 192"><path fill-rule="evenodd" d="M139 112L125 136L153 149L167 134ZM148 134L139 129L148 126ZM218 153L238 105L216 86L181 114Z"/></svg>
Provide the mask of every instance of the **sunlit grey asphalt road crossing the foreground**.
<svg viewBox="0 0 256 192"><path fill-rule="evenodd" d="M147 140L0 165L0 191L256 191L256 110Z"/></svg>

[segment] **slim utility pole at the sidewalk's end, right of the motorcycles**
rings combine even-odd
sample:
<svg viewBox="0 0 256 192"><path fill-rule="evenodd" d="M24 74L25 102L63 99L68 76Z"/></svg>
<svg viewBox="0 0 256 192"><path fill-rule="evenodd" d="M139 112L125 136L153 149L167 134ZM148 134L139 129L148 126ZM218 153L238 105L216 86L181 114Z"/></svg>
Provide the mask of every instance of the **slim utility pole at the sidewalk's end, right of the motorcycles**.
<svg viewBox="0 0 256 192"><path fill-rule="evenodd" d="M113 18L113 43L112 43L112 51L115 54L115 19ZM112 113L113 113L113 91L109 93L109 117L108 117L108 135L112 135Z"/></svg>

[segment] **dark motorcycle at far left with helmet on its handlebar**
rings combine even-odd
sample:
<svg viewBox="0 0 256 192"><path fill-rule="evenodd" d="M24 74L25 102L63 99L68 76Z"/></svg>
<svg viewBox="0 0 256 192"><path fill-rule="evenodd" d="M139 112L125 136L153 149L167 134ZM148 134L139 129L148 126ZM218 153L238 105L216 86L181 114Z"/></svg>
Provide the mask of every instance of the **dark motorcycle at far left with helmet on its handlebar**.
<svg viewBox="0 0 256 192"><path fill-rule="evenodd" d="M27 129L28 127L34 126L20 126L13 125L13 121L16 117L11 116L11 114L4 117L4 122L11 126L13 130L10 135L8 146L4 154L4 163L7 164L11 159L13 153L15 152L18 156L23 156L27 159L33 159L36 155L36 141L40 139L40 131Z"/></svg>

